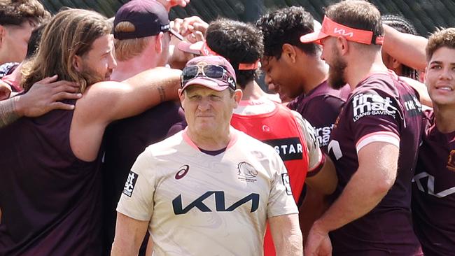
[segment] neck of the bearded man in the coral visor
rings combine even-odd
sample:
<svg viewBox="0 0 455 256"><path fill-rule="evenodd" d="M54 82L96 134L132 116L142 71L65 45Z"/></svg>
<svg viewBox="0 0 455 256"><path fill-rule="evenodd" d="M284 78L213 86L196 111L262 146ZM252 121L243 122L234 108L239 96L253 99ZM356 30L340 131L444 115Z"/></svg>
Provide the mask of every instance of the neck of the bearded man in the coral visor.
<svg viewBox="0 0 455 256"><path fill-rule="evenodd" d="M370 73L387 71L386 65L382 62L380 51L355 50L347 62L346 82L349 83L351 89L354 89Z"/></svg>

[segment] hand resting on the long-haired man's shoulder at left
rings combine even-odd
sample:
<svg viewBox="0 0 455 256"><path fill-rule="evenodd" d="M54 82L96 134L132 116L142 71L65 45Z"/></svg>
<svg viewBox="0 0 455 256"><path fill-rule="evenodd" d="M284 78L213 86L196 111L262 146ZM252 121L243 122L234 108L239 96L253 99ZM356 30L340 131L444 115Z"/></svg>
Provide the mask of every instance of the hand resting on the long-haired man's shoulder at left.
<svg viewBox="0 0 455 256"><path fill-rule="evenodd" d="M64 99L79 99L77 83L64 80L57 81L57 75L44 78L31 86L25 94L14 97L16 111L27 117L44 115L55 109L73 110L73 104L60 102Z"/></svg>

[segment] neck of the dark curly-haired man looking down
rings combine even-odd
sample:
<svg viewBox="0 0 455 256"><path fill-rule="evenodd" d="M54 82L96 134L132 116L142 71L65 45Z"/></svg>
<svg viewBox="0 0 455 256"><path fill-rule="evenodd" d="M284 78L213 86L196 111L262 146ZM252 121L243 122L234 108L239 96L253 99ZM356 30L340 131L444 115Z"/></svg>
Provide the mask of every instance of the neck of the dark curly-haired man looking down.
<svg viewBox="0 0 455 256"><path fill-rule="evenodd" d="M304 72L300 72L302 76L300 80L304 81L302 87L305 94L328 78L328 65L321 60L319 55L307 58L307 62L300 64L300 66L302 67L300 70L304 70ZM305 66L311 66L311 68L304 68Z"/></svg>

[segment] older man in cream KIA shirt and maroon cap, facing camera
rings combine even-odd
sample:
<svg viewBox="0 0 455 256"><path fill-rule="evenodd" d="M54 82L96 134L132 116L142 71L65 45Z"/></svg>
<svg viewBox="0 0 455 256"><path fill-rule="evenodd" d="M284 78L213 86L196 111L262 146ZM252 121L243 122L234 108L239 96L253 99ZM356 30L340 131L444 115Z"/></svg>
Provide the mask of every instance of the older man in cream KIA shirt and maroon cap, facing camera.
<svg viewBox="0 0 455 256"><path fill-rule="evenodd" d="M278 255L302 255L297 206L275 150L230 127L241 99L220 56L191 59L179 90L188 128L139 155L118 203L112 255L148 229L155 255L262 255L268 220Z"/></svg>

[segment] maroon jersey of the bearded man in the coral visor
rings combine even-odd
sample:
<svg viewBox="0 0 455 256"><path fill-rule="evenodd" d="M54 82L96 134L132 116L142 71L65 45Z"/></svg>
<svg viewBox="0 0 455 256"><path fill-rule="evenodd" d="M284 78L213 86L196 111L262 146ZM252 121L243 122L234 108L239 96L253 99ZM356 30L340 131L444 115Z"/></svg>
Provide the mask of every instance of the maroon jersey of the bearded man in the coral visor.
<svg viewBox="0 0 455 256"><path fill-rule="evenodd" d="M394 73L374 73L353 90L328 145L339 178L335 196L357 171L363 146L374 141L399 145L400 157L395 183L384 199L362 218L330 232L334 255L421 255L410 211L420 132L421 104Z"/></svg>

